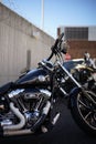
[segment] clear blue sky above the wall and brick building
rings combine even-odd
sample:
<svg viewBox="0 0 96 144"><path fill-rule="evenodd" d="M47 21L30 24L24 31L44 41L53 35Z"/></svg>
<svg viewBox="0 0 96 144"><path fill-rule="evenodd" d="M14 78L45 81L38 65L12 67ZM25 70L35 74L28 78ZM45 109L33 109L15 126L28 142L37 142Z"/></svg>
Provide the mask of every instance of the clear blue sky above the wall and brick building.
<svg viewBox="0 0 96 144"><path fill-rule="evenodd" d="M96 0L43 0L43 19L42 0L0 1L54 39L58 27L96 25Z"/></svg>

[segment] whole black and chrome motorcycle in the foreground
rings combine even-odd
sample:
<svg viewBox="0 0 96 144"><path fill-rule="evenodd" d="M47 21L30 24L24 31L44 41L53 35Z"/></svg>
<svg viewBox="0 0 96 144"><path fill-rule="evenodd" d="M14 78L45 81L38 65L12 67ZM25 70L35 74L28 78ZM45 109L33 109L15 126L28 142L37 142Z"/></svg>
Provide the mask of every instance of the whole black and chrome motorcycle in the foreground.
<svg viewBox="0 0 96 144"><path fill-rule="evenodd" d="M61 97L76 124L96 135L96 95L63 66L63 54L67 51L63 37L64 33L55 40L50 56L40 61L38 68L0 88L0 135L50 132L61 116L54 106ZM66 92L68 80L73 89Z"/></svg>

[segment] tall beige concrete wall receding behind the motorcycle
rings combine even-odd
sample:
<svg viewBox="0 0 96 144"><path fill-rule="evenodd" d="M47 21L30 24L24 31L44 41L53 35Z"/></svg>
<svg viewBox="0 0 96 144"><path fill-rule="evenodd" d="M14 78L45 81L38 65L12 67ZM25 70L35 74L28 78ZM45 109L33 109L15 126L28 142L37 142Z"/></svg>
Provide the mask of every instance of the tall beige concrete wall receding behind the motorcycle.
<svg viewBox="0 0 96 144"><path fill-rule="evenodd" d="M0 85L49 56L54 39L0 3Z"/></svg>

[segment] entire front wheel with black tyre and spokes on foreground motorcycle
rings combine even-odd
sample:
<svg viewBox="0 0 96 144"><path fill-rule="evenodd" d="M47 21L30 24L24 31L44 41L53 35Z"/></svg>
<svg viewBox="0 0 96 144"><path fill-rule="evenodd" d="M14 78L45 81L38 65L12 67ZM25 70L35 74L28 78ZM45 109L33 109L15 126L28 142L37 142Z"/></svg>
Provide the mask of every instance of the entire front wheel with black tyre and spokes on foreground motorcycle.
<svg viewBox="0 0 96 144"><path fill-rule="evenodd" d="M87 93L96 102L96 95L89 91ZM72 106L71 113L76 124L86 134L96 136L96 104L82 92L73 99L73 102L74 106Z"/></svg>

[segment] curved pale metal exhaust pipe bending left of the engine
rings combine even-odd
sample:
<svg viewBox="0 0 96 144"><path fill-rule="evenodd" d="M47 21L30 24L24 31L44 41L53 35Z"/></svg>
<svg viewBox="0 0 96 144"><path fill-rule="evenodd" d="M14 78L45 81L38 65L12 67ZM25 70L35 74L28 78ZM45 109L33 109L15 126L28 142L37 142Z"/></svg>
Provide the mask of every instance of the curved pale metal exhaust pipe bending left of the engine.
<svg viewBox="0 0 96 144"><path fill-rule="evenodd" d="M4 131L18 131L25 125L25 117L22 115L22 113L19 111L19 109L17 109L13 103L10 103L10 109L19 117L20 123L14 124L14 125L4 125L3 132Z"/></svg>

